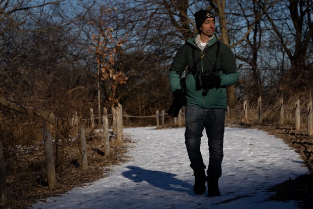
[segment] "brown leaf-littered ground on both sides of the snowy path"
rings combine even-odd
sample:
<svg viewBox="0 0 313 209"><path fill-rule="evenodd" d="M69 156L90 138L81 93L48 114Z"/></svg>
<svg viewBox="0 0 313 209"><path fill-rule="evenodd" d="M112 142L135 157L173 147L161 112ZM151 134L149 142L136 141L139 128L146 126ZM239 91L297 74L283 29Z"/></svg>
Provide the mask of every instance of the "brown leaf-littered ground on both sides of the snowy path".
<svg viewBox="0 0 313 209"><path fill-rule="evenodd" d="M246 126L245 124L228 124L230 127L242 127L259 129L283 139L292 147L305 162L309 170L313 171L313 138L307 134L295 131L292 128L280 129L274 126ZM7 189L9 200L6 206L0 208L15 209L26 208L37 200L44 201L49 196L63 194L74 187L79 187L95 180L104 178L110 171L108 168L114 164L120 164L128 160L125 156L127 148L132 146L132 139L124 138L122 145L117 145L115 137L111 136L110 156L106 156L99 148L99 140L87 141L88 170L79 168L77 156L78 149L75 145L60 149L60 160L57 165L57 187L50 189L46 179L45 161L42 150L34 150L28 154L11 154L7 162L10 169L7 171ZM77 146L77 145L76 145ZM30 157L31 156L31 157ZM44 156L44 155L43 155ZM7 156L8 157L8 156ZM313 176L303 175L295 180L288 180L269 189L276 194L271 197L277 201L296 200L300 208L312 208Z"/></svg>

